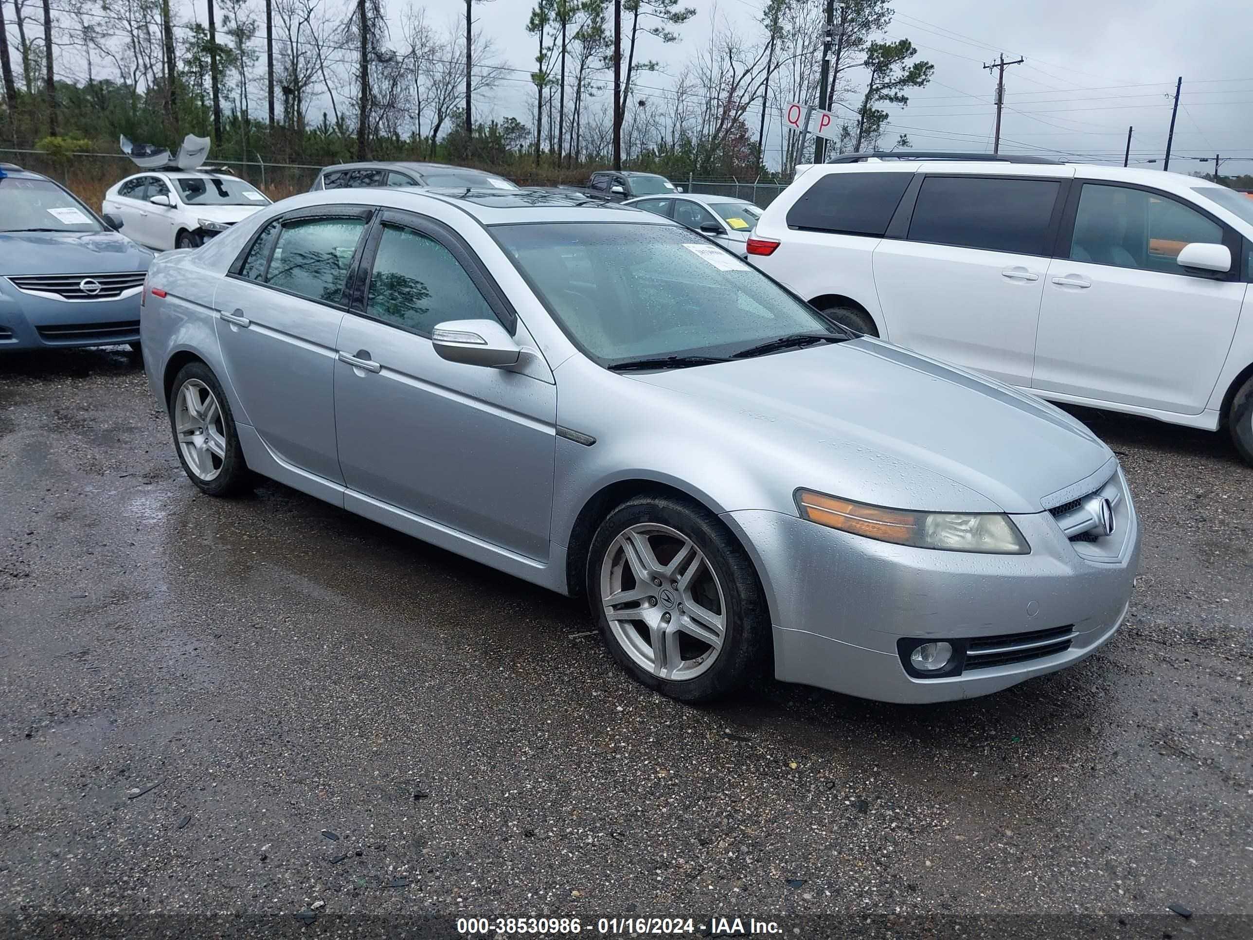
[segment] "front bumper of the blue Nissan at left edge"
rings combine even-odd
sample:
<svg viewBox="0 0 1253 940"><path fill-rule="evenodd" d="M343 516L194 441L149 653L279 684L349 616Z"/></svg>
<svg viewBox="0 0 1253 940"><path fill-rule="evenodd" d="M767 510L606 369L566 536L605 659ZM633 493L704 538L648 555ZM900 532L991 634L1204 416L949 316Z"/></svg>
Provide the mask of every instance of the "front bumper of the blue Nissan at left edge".
<svg viewBox="0 0 1253 940"><path fill-rule="evenodd" d="M0 278L0 352L139 342L139 298L51 300Z"/></svg>

